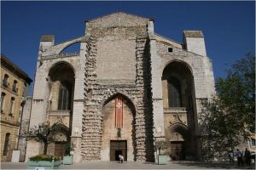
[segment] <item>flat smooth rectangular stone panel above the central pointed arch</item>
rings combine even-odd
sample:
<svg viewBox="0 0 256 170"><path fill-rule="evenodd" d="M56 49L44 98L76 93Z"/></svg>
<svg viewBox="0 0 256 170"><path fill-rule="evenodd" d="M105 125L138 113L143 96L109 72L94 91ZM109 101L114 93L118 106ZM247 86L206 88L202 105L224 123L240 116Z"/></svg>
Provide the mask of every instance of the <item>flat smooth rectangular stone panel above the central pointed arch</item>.
<svg viewBox="0 0 256 170"><path fill-rule="evenodd" d="M131 80L136 78L136 42L127 39L98 39L97 80ZM118 48L117 48L118 47Z"/></svg>

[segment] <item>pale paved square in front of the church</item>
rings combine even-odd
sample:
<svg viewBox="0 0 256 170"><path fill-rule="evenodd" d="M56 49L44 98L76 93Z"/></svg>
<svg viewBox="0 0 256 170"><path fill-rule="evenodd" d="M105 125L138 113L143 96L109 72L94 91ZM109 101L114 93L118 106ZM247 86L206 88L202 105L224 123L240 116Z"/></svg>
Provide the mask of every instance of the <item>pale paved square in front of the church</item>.
<svg viewBox="0 0 256 170"><path fill-rule="evenodd" d="M26 163L2 162L1 169L26 169ZM238 167L236 163L200 163L193 161L168 162L167 165L157 165L155 163L117 161L88 161L73 165L61 165L61 169L255 169L255 163L250 167Z"/></svg>

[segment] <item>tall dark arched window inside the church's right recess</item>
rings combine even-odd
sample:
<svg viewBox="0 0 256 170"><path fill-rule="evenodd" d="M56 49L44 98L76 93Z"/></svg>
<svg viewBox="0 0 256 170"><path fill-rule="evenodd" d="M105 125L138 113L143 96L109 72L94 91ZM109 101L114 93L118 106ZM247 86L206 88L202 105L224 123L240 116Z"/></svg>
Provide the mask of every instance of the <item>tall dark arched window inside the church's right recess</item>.
<svg viewBox="0 0 256 170"><path fill-rule="evenodd" d="M181 107L181 85L177 78L172 77L168 80L168 100L169 107Z"/></svg>

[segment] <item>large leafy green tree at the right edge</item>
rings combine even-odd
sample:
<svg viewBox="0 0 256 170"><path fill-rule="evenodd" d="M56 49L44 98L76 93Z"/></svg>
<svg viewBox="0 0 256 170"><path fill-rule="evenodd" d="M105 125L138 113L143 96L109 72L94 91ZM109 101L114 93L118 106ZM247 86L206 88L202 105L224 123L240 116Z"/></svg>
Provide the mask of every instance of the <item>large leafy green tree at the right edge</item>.
<svg viewBox="0 0 256 170"><path fill-rule="evenodd" d="M203 102L201 152L209 160L234 150L255 129L255 56L247 54L216 81L217 94ZM251 131L251 132L250 132Z"/></svg>

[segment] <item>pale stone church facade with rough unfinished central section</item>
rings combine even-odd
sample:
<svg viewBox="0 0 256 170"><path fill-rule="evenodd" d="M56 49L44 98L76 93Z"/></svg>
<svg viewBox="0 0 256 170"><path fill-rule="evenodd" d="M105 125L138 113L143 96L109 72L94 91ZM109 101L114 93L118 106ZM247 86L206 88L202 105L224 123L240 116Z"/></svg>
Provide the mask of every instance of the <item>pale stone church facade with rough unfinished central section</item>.
<svg viewBox="0 0 256 170"><path fill-rule="evenodd" d="M77 43L79 53L63 53ZM183 31L180 44L122 12L86 21L84 36L67 42L42 36L34 82L30 127L60 122L48 153L72 144L75 162L154 161L157 139L170 158L196 159L201 100L214 93L201 31ZM26 158L42 152L28 141Z"/></svg>

